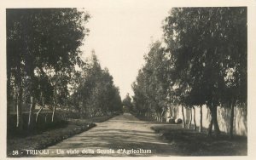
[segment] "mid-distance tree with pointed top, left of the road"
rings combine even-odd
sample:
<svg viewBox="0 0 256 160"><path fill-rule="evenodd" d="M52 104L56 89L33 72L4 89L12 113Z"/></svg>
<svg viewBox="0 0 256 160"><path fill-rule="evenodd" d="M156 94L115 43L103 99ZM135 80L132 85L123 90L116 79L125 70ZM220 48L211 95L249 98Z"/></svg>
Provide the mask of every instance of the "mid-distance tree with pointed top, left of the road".
<svg viewBox="0 0 256 160"><path fill-rule="evenodd" d="M74 109L79 111L81 118L102 116L122 110L119 89L114 86L108 68L102 69L94 52L84 63L81 71L73 76L75 85L69 100L75 106Z"/></svg>

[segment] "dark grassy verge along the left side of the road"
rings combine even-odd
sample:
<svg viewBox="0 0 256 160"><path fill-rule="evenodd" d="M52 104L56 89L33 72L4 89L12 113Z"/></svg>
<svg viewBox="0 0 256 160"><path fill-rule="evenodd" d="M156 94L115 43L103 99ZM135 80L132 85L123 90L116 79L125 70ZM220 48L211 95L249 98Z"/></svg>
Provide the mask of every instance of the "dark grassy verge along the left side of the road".
<svg viewBox="0 0 256 160"><path fill-rule="evenodd" d="M48 146L53 146L61 140L65 140L74 134L80 134L96 126L95 123L107 121L113 116L93 117L90 119L67 119L49 126L41 131L38 129L32 134L12 133L7 139L7 156L16 157L12 152L25 150L40 150ZM21 157L21 156L20 156Z"/></svg>

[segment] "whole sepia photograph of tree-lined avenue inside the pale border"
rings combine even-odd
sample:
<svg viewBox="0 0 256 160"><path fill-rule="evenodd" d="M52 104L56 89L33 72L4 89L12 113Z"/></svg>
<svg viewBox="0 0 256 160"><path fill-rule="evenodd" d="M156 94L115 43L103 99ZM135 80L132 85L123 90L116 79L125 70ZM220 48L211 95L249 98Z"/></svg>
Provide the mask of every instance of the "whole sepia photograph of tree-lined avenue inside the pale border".
<svg viewBox="0 0 256 160"><path fill-rule="evenodd" d="M126 4L4 9L5 157L248 155L247 5Z"/></svg>

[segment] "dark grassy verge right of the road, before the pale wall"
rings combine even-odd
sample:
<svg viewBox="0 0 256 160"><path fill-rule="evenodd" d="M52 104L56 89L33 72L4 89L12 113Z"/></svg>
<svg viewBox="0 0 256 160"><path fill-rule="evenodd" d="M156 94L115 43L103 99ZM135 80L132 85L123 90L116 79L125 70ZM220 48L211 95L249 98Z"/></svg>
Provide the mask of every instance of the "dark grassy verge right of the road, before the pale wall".
<svg viewBox="0 0 256 160"><path fill-rule="evenodd" d="M194 129L182 129L177 124L157 124L151 127L183 156L247 156L247 137L227 134L209 137L206 130L199 133Z"/></svg>

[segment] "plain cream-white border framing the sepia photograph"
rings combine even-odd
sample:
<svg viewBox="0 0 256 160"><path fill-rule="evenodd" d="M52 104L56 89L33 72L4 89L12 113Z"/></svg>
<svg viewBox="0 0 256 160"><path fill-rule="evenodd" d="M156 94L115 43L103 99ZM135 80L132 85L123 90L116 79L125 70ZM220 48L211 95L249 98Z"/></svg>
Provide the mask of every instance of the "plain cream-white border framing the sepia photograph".
<svg viewBox="0 0 256 160"><path fill-rule="evenodd" d="M122 157L125 159L255 159L256 158L256 1L255 0L9 0L2 2L0 5L0 71L1 71L1 112L0 112L0 159L13 159L6 158L6 28L5 28L5 9L8 8L154 8L161 9L170 4L171 7L228 7L228 6L247 6L247 31L248 31L248 114L247 114L247 129L248 129L248 156L247 157ZM163 17L164 18L164 17ZM61 157L61 159L70 159L71 157ZM119 159L120 157L72 157L75 159L102 159L113 158ZM18 159L27 159L18 158ZM30 158L33 159L33 158ZM41 158L36 158L41 159ZM45 159L45 158L44 158ZM60 159L59 157L48 157L47 159Z"/></svg>

